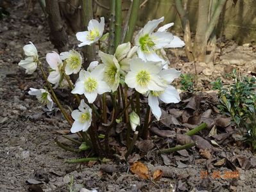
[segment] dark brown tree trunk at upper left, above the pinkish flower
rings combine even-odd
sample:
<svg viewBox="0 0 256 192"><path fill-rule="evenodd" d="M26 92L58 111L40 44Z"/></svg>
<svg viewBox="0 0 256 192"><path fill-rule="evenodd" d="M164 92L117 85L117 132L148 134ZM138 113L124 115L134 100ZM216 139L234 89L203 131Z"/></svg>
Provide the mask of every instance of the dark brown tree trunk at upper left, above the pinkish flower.
<svg viewBox="0 0 256 192"><path fill-rule="evenodd" d="M59 52L67 51L69 47L68 38L60 16L58 0L46 0L46 12L48 14L47 20L51 29L51 43Z"/></svg>

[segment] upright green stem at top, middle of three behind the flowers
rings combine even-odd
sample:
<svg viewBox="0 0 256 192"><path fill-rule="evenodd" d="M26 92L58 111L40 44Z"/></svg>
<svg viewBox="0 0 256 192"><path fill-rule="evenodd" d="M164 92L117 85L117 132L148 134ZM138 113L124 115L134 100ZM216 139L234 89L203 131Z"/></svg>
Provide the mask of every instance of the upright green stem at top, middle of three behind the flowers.
<svg viewBox="0 0 256 192"><path fill-rule="evenodd" d="M122 1L115 0L115 49L121 42L122 32Z"/></svg>

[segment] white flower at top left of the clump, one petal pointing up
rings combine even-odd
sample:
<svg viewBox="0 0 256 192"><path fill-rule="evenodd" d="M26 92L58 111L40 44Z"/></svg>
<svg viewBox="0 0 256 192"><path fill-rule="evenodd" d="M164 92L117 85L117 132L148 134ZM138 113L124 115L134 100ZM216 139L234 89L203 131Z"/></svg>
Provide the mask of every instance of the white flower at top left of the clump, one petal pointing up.
<svg viewBox="0 0 256 192"><path fill-rule="evenodd" d="M92 19L89 21L88 31L76 33L76 38L81 42L78 47L93 44L101 38L104 31L105 19L101 17L101 22Z"/></svg>

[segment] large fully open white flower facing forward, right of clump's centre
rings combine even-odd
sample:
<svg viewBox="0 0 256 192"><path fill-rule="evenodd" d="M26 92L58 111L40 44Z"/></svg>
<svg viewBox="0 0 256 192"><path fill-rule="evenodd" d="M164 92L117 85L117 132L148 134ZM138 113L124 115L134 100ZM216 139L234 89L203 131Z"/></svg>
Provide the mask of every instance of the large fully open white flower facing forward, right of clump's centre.
<svg viewBox="0 0 256 192"><path fill-rule="evenodd" d="M130 61L130 72L125 77L124 82L130 88L135 88L139 93L150 91L164 91L165 84L158 73L162 65L153 61L144 62L140 58L133 58Z"/></svg>

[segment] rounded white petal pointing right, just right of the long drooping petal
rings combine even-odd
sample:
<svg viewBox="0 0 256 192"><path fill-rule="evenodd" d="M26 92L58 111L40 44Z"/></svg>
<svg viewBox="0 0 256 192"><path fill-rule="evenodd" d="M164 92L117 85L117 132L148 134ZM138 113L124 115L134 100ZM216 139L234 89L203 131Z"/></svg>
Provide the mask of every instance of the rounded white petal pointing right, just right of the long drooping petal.
<svg viewBox="0 0 256 192"><path fill-rule="evenodd" d="M177 92L175 87L169 85L166 90L159 95L159 99L165 103L178 103L180 102L180 94Z"/></svg>

